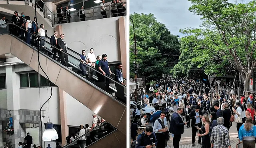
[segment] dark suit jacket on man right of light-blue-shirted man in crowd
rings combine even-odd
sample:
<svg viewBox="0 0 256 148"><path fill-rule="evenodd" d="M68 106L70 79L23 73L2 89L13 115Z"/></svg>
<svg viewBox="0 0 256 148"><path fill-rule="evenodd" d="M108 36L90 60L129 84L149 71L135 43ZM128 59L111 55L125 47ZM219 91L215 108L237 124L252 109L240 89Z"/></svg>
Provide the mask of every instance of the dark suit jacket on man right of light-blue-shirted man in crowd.
<svg viewBox="0 0 256 148"><path fill-rule="evenodd" d="M184 125L182 118L177 112L172 114L169 131L172 134L181 135L184 133Z"/></svg>

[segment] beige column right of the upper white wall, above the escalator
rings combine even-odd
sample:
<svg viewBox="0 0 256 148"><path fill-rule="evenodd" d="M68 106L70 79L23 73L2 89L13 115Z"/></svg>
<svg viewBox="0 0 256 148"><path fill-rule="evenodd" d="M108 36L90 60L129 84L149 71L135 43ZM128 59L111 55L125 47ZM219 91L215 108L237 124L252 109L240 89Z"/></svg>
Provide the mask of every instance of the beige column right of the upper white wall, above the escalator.
<svg viewBox="0 0 256 148"><path fill-rule="evenodd" d="M120 17L118 19L119 25L119 41L120 41L120 53L121 53L121 62L123 64L123 77L126 79L126 20L125 17Z"/></svg>

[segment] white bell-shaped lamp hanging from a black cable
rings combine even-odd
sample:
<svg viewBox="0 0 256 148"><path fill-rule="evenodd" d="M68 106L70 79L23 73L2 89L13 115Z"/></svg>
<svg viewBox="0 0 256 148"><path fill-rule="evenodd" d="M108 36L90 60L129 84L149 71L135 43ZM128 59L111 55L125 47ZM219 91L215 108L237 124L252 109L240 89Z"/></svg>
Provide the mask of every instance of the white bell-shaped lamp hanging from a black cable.
<svg viewBox="0 0 256 148"><path fill-rule="evenodd" d="M46 123L46 129L44 130L43 133L43 141L53 141L58 139L58 134L57 131L53 128L52 122L47 122Z"/></svg>

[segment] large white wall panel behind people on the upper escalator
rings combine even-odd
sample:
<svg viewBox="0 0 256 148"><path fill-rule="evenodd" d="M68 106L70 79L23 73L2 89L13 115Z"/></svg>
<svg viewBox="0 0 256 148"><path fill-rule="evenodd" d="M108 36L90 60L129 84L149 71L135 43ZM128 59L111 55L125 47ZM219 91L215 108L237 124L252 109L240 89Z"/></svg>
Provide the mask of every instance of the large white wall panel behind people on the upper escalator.
<svg viewBox="0 0 256 148"><path fill-rule="evenodd" d="M118 18L61 24L65 42L78 53L94 48L96 56L106 53L109 62L121 61Z"/></svg>

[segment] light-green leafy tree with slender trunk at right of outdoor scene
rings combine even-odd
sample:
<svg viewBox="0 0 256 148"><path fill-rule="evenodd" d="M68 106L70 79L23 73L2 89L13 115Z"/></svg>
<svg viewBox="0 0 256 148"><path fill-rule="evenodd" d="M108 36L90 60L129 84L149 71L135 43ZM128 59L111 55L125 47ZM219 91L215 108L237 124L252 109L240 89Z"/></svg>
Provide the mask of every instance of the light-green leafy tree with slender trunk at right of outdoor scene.
<svg viewBox="0 0 256 148"><path fill-rule="evenodd" d="M190 12L202 16L202 29L188 28L182 32L195 37L197 49L219 56L222 63L228 62L242 75L244 89L248 90L256 66L256 1L248 4L232 4L228 0L189 1Z"/></svg>

